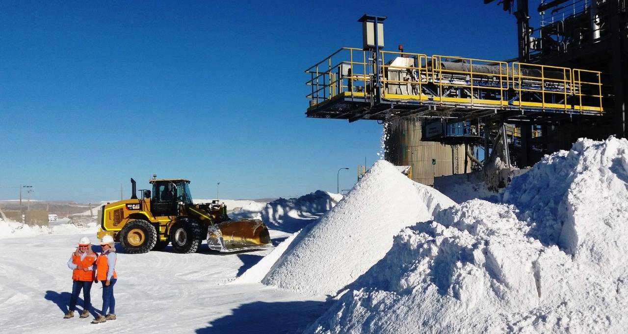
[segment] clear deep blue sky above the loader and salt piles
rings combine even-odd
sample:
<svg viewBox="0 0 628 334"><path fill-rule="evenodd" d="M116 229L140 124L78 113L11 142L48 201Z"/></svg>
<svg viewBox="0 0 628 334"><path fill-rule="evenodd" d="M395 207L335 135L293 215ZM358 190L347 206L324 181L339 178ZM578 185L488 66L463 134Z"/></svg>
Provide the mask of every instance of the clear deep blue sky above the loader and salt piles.
<svg viewBox="0 0 628 334"><path fill-rule="evenodd" d="M532 1L535 3L534 1ZM130 196L158 177L197 198L335 191L377 159L381 125L306 118L303 71L360 46L506 59L514 16L482 1L2 1L0 199ZM534 24L534 23L533 23Z"/></svg>

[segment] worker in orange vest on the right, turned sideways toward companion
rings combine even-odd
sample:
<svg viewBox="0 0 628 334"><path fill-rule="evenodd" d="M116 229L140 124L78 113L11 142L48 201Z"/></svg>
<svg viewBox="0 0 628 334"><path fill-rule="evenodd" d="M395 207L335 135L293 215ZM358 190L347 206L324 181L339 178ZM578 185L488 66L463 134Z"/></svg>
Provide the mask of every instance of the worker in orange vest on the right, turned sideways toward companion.
<svg viewBox="0 0 628 334"><path fill-rule="evenodd" d="M104 323L107 320L116 320L116 298L114 298L114 285L117 281L116 274L116 243L112 236L104 236L100 241L102 253L96 259L96 279L94 282L102 283L102 312L92 323ZM109 313L107 313L109 310Z"/></svg>

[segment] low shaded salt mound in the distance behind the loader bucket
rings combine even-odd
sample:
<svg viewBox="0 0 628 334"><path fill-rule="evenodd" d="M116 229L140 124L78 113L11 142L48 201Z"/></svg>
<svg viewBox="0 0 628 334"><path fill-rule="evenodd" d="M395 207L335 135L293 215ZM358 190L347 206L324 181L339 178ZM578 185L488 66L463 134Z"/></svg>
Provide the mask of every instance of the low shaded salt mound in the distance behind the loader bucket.
<svg viewBox="0 0 628 334"><path fill-rule="evenodd" d="M318 219L341 199L340 194L317 190L298 198L251 203L229 216L232 219L261 219L269 229L292 233Z"/></svg>

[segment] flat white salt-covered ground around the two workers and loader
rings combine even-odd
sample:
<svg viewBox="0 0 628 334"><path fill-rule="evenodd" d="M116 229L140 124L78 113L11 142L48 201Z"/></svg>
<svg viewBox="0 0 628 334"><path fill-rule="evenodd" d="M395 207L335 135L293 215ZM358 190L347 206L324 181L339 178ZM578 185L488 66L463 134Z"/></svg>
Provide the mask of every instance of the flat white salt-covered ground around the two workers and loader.
<svg viewBox="0 0 628 334"><path fill-rule="evenodd" d="M318 201L328 194L317 193L314 197ZM337 195L327 197L333 204L337 202ZM295 209L274 202L271 206L286 212ZM301 219L302 226L320 216L310 211L293 213L310 217ZM221 254L203 244L196 254L175 254L170 246L162 252L119 253L117 320L100 325L91 325L91 320L78 316L64 320L72 288L67 261L80 237L90 237L96 243L96 230L95 223L87 227L55 224L40 228L0 221L0 331L297 333L328 307L325 296L304 297L260 283L227 284L271 250ZM275 244L286 235L271 230ZM94 246L94 250L99 251L100 246ZM92 304L97 310L102 306L101 291L97 285L92 287Z"/></svg>

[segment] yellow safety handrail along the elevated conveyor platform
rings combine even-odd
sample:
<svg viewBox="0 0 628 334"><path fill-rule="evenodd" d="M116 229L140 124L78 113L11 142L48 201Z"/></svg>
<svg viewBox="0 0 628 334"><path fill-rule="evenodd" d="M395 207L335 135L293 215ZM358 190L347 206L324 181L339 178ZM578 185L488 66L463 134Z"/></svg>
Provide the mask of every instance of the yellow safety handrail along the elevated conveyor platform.
<svg viewBox="0 0 628 334"><path fill-rule="evenodd" d="M310 66L306 96L315 104L338 95L366 100L381 73L382 98L388 100L603 112L598 71L398 51L381 51L376 68L367 53L340 48ZM408 61L393 63L399 56Z"/></svg>

